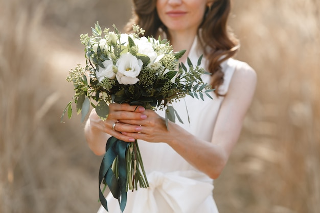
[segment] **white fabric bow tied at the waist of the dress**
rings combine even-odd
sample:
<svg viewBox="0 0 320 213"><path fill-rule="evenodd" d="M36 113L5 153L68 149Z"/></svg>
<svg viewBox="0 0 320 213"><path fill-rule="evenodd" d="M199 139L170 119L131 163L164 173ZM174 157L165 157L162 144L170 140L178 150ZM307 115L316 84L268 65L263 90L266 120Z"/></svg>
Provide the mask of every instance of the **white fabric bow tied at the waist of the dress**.
<svg viewBox="0 0 320 213"><path fill-rule="evenodd" d="M185 174L186 172L187 175ZM152 172L148 175L150 187L135 191L132 213L158 213L154 198L156 189L166 200L175 213L194 213L197 207L212 193L213 184L192 179L190 176L199 176L195 171L161 173ZM185 199L184 199L185 197ZM126 212L126 211L125 211Z"/></svg>

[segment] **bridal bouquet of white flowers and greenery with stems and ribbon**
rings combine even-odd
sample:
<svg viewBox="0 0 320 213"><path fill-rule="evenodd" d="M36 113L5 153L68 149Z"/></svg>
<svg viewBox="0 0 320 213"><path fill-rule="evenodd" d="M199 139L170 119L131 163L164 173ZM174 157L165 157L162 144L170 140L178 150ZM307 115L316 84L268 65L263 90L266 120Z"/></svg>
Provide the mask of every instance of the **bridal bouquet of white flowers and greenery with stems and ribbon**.
<svg viewBox="0 0 320 213"><path fill-rule="evenodd" d="M201 75L208 74L187 60L188 68L178 59L185 51L173 52L169 41L144 37L144 30L133 26L131 34L121 34L118 29L102 31L97 22L92 28L92 35L81 34L80 40L85 45L86 66L78 64L71 69L67 81L73 82L75 95L63 111L69 119L72 116L72 103L76 104L77 113L82 121L90 106L96 109L102 120L109 112L108 104L128 103L144 106L146 109L165 110L166 124L175 118L182 123L172 102L190 95L203 100L203 94L211 98L213 91L201 80ZM119 200L123 211L128 190L148 187L143 161L137 141L125 143L110 137L106 145L99 171L99 199L107 210L107 202L101 191L101 184L108 186L113 197Z"/></svg>

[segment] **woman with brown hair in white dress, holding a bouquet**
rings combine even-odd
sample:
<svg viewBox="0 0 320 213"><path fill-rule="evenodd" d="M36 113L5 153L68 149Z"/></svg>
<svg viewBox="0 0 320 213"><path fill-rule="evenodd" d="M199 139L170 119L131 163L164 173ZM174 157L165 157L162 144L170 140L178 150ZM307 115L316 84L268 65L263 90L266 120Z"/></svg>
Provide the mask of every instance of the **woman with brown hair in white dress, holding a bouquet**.
<svg viewBox="0 0 320 213"><path fill-rule="evenodd" d="M133 8L128 26L166 36L174 51L187 50L180 62L189 57L196 64L204 55L202 65L212 75L202 80L216 88L214 99L174 103L184 124L169 122L168 129L162 111L112 103L104 122L90 113L87 143L102 155L111 135L128 143L138 139L150 187L128 192L124 213L216 213L213 179L237 143L257 81L249 65L232 58L239 45L227 31L230 0L134 0ZM112 195L106 199L109 212L120 212Z"/></svg>

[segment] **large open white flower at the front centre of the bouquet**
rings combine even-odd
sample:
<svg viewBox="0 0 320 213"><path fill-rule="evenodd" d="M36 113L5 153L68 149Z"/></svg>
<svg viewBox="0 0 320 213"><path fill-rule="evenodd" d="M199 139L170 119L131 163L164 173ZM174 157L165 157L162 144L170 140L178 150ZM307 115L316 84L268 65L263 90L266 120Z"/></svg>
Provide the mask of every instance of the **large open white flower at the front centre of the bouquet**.
<svg viewBox="0 0 320 213"><path fill-rule="evenodd" d="M122 54L118 59L116 66L118 67L117 80L120 84L135 84L139 81L139 76L143 62L131 55L130 53Z"/></svg>

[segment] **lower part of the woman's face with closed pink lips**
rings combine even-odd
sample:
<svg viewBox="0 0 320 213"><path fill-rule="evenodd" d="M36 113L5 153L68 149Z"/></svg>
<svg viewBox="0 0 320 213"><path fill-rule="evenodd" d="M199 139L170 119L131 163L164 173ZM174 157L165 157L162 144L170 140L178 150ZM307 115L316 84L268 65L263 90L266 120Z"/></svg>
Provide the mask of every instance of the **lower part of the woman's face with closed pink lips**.
<svg viewBox="0 0 320 213"><path fill-rule="evenodd" d="M169 31L196 32L209 2L210 0L157 0L156 9Z"/></svg>

